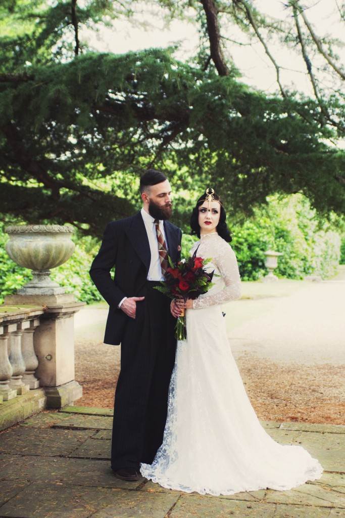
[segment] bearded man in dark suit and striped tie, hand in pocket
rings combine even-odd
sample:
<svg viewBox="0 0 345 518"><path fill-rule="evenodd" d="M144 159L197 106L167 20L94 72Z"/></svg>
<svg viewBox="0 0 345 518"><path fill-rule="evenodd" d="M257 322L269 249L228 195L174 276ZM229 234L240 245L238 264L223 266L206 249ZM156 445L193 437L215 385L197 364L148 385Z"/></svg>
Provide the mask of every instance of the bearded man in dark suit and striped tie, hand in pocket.
<svg viewBox="0 0 345 518"><path fill-rule="evenodd" d="M168 389L175 362L178 309L154 287L181 255L181 229L168 220L171 188L160 171L141 177L143 207L108 223L90 275L109 304L104 342L121 342L116 386L111 467L122 480L139 479L139 464L151 464L162 443ZM115 265L115 276L110 270Z"/></svg>

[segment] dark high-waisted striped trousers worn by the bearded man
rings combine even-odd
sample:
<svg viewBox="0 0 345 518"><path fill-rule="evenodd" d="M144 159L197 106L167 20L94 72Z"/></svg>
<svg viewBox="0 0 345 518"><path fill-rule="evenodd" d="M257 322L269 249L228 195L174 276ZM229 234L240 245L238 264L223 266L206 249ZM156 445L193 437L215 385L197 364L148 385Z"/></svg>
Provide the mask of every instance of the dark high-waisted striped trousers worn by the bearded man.
<svg viewBox="0 0 345 518"><path fill-rule="evenodd" d="M121 343L112 432L111 467L151 464L163 440L168 391L175 362L176 320L170 299L146 281L136 319L128 317Z"/></svg>

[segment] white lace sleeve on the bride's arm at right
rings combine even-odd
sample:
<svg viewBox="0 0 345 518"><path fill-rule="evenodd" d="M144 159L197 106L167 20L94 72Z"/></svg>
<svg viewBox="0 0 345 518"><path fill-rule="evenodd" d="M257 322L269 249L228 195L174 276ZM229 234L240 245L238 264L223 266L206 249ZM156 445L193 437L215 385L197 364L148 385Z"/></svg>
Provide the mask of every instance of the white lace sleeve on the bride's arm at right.
<svg viewBox="0 0 345 518"><path fill-rule="evenodd" d="M241 297L241 280L238 271L235 252L228 243L220 247L219 253L214 257L225 286L216 293L206 293L193 300L193 308L206 308L216 304L223 304L229 300L236 300Z"/></svg>

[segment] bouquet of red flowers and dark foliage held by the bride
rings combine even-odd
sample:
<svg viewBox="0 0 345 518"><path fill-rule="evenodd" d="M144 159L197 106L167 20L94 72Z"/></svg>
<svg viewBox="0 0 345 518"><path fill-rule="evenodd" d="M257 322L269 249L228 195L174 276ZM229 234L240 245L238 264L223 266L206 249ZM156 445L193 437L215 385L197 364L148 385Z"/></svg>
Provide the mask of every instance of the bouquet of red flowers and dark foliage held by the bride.
<svg viewBox="0 0 345 518"><path fill-rule="evenodd" d="M206 293L214 285L212 282L214 271L209 273L204 269L211 259L198 257L198 248L192 256L183 257L176 265L168 255L169 268L164 275L164 281L161 282L161 286L156 286L156 290L169 298L183 298L184 301L187 298L194 300ZM177 340L187 338L184 310L177 318L175 336Z"/></svg>

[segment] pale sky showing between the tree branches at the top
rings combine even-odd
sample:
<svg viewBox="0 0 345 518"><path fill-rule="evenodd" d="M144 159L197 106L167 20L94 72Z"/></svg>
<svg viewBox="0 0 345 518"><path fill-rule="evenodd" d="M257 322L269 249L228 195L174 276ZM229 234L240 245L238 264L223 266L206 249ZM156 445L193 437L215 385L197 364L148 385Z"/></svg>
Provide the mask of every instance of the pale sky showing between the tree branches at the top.
<svg viewBox="0 0 345 518"><path fill-rule="evenodd" d="M340 5L339 0L338 4ZM284 9L283 2L280 0L257 0L254 5L267 15L279 19L288 16L291 12ZM345 24L341 25L339 22L336 0L305 0L304 5L309 6L306 15L318 35L331 35L334 38L343 39ZM198 47L196 23L175 20L167 25L163 20L164 11L162 9L157 7L153 9L152 6L143 4L139 4L139 9L142 12L136 15L134 23L128 20L116 20L113 22L112 28L102 27L101 32L97 35L83 31L83 36L87 36L89 42L97 50L116 54L150 47L166 48L176 42L179 43L179 49L176 52L177 59L184 61L196 54ZM190 12L191 15L193 12ZM246 42L246 36L233 26L226 27L223 24L222 35L235 41ZM281 70L284 86L311 95L310 81L306 75L305 63L299 49L295 53L279 44L268 43L268 45L278 64L286 68ZM277 90L275 69L260 42L255 42L251 46L229 43L227 52L241 70L244 82L267 93ZM342 58L342 63L345 63L344 48L339 49L338 54ZM322 66L322 64L323 60L319 58L312 60L313 67ZM323 76L323 81L324 84L333 85L332 82L329 82L327 75Z"/></svg>

